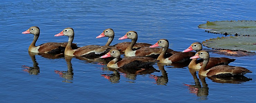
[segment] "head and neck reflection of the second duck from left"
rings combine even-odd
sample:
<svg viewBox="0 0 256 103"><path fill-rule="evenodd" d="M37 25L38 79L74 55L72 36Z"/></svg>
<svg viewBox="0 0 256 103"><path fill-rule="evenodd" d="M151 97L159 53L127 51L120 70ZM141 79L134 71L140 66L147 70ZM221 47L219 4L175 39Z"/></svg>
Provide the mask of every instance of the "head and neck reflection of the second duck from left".
<svg viewBox="0 0 256 103"><path fill-rule="evenodd" d="M60 77L63 77L65 79L63 82L73 83L72 80L73 80L74 73L73 73L73 68L71 64L71 60L73 56L64 55L64 57L67 62L68 70L67 71L54 70L54 72L59 74Z"/></svg>

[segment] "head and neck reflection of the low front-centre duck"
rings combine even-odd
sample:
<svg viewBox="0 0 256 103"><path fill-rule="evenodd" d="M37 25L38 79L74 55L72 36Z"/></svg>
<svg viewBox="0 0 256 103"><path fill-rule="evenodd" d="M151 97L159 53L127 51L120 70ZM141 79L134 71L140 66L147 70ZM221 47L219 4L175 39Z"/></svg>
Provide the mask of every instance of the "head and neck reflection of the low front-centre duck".
<svg viewBox="0 0 256 103"><path fill-rule="evenodd" d="M109 70L109 71L113 71L113 73L111 73L111 74L102 74L101 76L108 79L108 81L110 81L112 83L119 83L120 73L116 69L113 69L113 68L103 67L102 69L104 69L104 68Z"/></svg>

